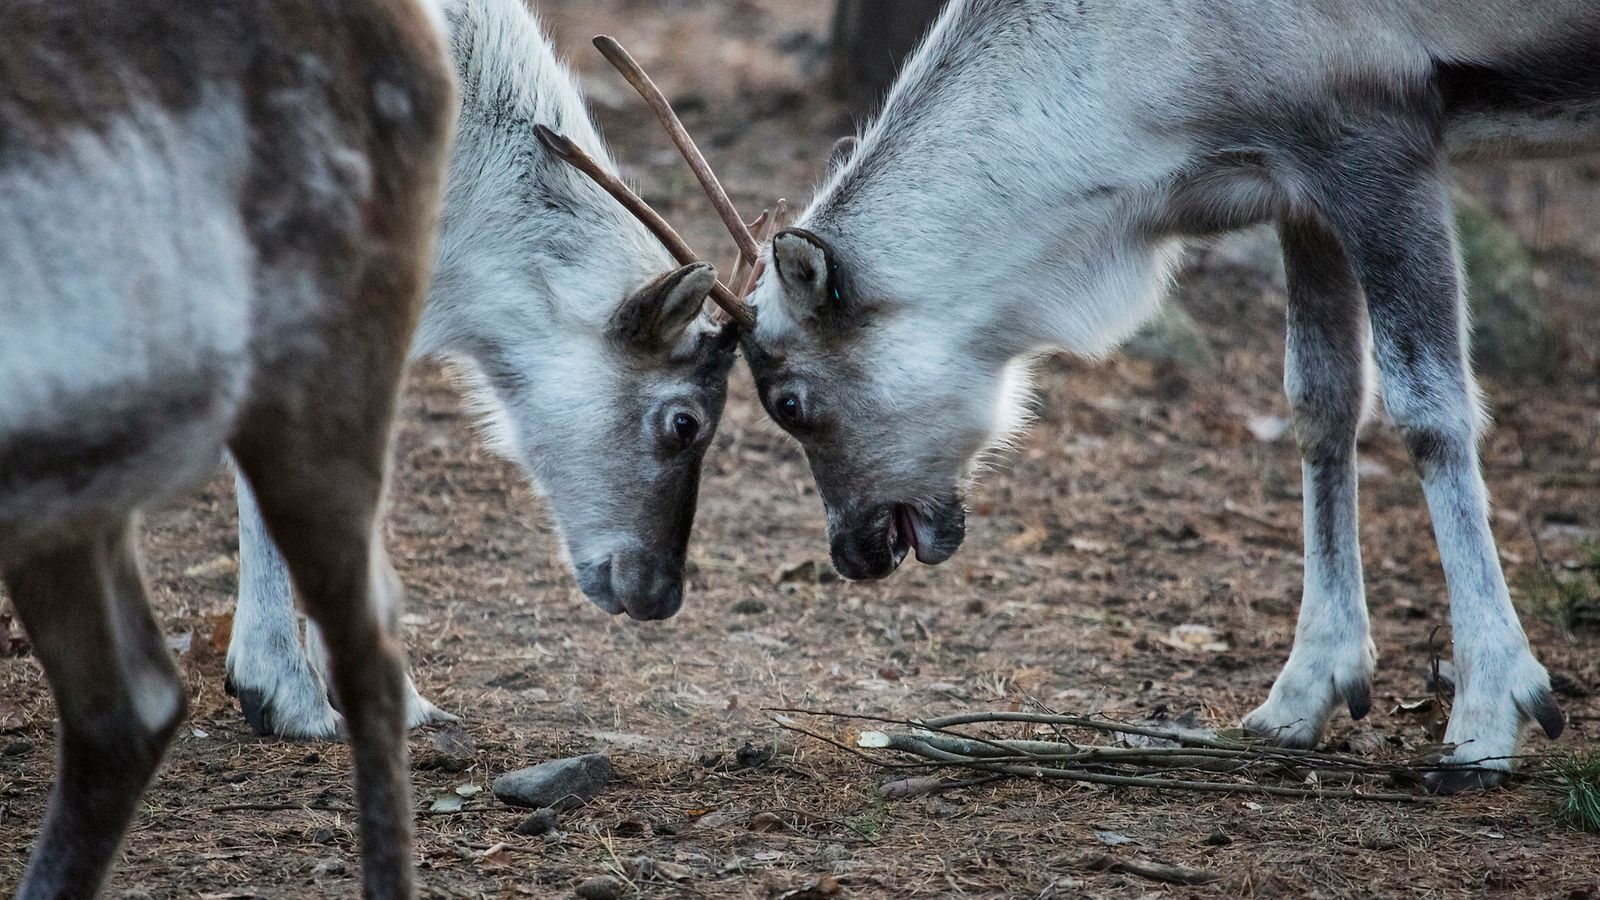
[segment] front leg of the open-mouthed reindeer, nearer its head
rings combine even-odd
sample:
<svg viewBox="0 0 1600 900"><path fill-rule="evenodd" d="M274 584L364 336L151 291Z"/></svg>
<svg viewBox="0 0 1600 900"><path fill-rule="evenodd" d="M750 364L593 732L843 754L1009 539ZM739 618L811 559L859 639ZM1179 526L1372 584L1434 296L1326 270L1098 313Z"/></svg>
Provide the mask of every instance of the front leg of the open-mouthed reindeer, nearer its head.
<svg viewBox="0 0 1600 900"><path fill-rule="evenodd" d="M1368 405L1362 288L1336 237L1315 223L1280 227L1290 275L1283 386L1294 410L1306 495L1306 589L1294 650L1245 729L1312 746L1342 701L1371 708L1378 660L1362 586L1355 437Z"/></svg>

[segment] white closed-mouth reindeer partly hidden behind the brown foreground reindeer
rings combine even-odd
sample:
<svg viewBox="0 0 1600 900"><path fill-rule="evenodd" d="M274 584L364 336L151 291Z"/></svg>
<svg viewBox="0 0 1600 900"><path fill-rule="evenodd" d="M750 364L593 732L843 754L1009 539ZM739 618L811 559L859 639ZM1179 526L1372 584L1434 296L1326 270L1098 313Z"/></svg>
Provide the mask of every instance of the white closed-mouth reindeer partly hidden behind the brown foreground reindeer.
<svg viewBox="0 0 1600 900"><path fill-rule="evenodd" d="M445 18L462 101L411 354L467 375L494 445L549 496L582 591L610 613L667 618L734 356L736 328L701 311L715 269L675 267L635 215L541 144L536 127L566 131L616 168L522 0L446 0ZM238 512L229 689L262 733L334 737L326 649L315 625L301 641L243 480ZM406 698L413 725L445 716L410 681Z"/></svg>

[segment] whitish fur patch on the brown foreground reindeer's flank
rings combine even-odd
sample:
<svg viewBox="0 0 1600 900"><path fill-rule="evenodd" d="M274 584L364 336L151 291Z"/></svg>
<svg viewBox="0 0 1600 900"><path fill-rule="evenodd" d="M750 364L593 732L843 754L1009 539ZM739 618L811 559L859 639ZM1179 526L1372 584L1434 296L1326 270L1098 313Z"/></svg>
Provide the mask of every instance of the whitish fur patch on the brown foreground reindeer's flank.
<svg viewBox="0 0 1600 900"><path fill-rule="evenodd" d="M226 139L242 128L242 104L213 93L186 117L134 109L67 135L53 157L0 168L0 221L11 223L0 229L0 434L93 442L186 381L205 386L194 399L208 412L170 423L131 468L91 484L0 487L0 560L29 533L91 508L131 511L152 487L176 490L216 464L251 335L251 250L234 199L246 160ZM128 290L149 303L123 303Z"/></svg>

